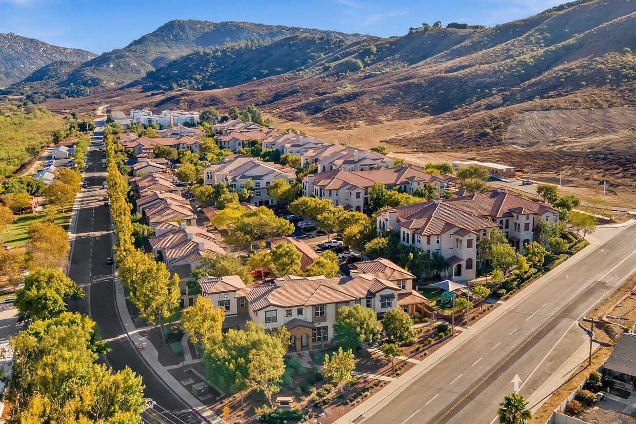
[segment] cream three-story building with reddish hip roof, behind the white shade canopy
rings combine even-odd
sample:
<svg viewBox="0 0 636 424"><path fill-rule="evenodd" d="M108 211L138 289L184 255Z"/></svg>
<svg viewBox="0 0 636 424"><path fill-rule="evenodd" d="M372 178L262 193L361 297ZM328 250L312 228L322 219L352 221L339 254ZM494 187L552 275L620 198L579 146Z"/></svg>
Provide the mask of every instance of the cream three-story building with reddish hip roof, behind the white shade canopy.
<svg viewBox="0 0 636 424"><path fill-rule="evenodd" d="M375 212L379 232L397 231L401 243L448 260L446 278L464 282L476 277L477 244L499 224L455 209L441 200Z"/></svg>

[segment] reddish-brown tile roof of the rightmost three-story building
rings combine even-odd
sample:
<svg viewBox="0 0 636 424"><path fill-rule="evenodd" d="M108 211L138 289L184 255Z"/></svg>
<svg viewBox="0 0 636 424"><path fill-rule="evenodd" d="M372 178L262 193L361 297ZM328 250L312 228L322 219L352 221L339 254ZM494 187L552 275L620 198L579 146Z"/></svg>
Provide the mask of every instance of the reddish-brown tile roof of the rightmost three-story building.
<svg viewBox="0 0 636 424"><path fill-rule="evenodd" d="M502 189L456 197L445 200L444 203L469 214L494 218L511 216L511 214L543 215L547 212L558 215L558 210L550 205L532 202Z"/></svg>

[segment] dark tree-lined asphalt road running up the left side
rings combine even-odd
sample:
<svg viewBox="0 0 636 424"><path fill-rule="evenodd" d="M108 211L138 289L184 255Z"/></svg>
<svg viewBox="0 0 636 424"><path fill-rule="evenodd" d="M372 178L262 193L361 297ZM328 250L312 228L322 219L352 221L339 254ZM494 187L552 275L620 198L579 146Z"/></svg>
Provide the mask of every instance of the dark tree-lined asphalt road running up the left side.
<svg viewBox="0 0 636 424"><path fill-rule="evenodd" d="M177 399L146 366L136 348L128 341L116 313L113 266L106 264L106 258L113 257L109 208L102 200L106 196L106 190L102 189L106 169L101 165L101 152L95 147L91 147L90 151L92 155L86 162L89 168L85 170L88 188L83 189L78 200L76 238L69 270L69 277L85 289L86 298L71 302L69 310L85 313L97 322L100 337L107 340L111 348L111 352L100 357L100 362L108 364L116 371L130 367L141 375L146 385L144 395L169 411L164 414L170 416L172 421L165 422L200 423L190 413L190 408Z"/></svg>

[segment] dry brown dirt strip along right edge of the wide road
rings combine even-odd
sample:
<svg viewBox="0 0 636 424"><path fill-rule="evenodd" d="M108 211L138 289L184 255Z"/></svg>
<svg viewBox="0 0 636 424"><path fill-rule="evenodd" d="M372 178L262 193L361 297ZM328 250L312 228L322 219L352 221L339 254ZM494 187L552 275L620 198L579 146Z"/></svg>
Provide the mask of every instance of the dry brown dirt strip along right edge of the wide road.
<svg viewBox="0 0 636 424"><path fill-rule="evenodd" d="M621 287L614 292L611 296L607 297L605 301L598 304L597 308L590 313L591 317L600 317L608 310L610 310L613 306L616 305L620 299L625 296L626 293L631 291L633 287L636 286L636 274L632 275ZM635 296L633 296L635 297ZM611 314L613 315L613 314ZM624 301L623 303L623 315L625 318L625 322L636 322L636 300L629 299L628 301ZM621 322L623 320L621 319ZM586 325L590 325L586 323ZM595 331L595 339L601 341L603 343L611 343L613 345L614 341L612 338L616 335L616 324L607 324L602 327L602 329L598 329ZM592 356L592 364L588 367L588 361L583 362L581 366L579 366L574 374L570 377L570 379L565 382L555 393L548 399L534 414L533 420L530 424L544 424L552 411L554 411L563 400L570 395L570 393L574 392L578 388L581 383L590 375L591 371L595 371L598 367L600 367L605 359L611 353L611 347L601 347L593 354ZM591 422L591 421L590 421ZM619 423L620 421L617 421Z"/></svg>

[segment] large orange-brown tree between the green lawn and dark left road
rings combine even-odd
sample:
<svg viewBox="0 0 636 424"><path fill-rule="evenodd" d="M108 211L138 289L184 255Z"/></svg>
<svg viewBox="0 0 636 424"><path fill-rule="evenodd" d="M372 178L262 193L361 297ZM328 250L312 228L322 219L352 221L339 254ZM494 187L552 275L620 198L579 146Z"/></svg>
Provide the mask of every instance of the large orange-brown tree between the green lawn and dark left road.
<svg viewBox="0 0 636 424"><path fill-rule="evenodd" d="M64 268L71 249L69 235L52 222L33 222L27 230L26 243L29 268Z"/></svg>

